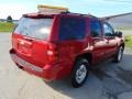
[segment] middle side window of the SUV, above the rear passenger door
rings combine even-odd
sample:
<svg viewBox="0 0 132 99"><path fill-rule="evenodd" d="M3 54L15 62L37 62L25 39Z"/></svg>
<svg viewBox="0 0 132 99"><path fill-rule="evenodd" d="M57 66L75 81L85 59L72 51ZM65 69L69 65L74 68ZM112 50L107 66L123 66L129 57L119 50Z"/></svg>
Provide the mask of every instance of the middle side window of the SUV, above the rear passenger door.
<svg viewBox="0 0 132 99"><path fill-rule="evenodd" d="M90 22L90 35L92 37L99 37L99 36L101 36L101 32L102 32L101 23L97 20L92 20Z"/></svg>

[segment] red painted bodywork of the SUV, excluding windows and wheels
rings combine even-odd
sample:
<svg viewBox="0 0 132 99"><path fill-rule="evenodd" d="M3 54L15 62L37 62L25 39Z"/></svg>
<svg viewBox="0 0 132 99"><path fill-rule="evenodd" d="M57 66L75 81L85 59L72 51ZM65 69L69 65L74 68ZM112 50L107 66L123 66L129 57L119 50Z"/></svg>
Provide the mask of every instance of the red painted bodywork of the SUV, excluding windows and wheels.
<svg viewBox="0 0 132 99"><path fill-rule="evenodd" d="M82 40L59 41L61 18L82 18L86 21L85 37ZM107 38L90 36L90 16L81 15L54 15L51 34L47 40L28 37L18 33L12 34L12 50L10 54L14 63L30 74L40 76L46 80L61 79L72 73L74 63L79 55L91 54L91 65L117 53L118 46L123 42L122 37ZM20 62L18 58L20 57ZM25 66L25 65L30 65ZM41 70L41 72L37 72Z"/></svg>

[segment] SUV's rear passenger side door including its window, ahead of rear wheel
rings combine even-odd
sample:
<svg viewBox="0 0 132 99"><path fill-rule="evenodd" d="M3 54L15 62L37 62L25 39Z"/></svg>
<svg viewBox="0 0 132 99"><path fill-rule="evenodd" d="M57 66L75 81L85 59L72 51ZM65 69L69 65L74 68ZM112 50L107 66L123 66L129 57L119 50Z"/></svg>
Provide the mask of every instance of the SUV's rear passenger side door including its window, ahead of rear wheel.
<svg viewBox="0 0 132 99"><path fill-rule="evenodd" d="M92 63L97 64L103 61L108 41L103 38L102 25L98 20L90 21L90 38L92 43Z"/></svg>

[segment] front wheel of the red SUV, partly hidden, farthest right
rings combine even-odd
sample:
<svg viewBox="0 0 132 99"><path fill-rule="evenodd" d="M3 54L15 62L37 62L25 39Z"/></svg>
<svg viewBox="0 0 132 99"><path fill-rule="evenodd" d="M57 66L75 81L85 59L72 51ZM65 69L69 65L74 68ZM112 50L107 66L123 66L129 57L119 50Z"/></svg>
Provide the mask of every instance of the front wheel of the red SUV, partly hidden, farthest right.
<svg viewBox="0 0 132 99"><path fill-rule="evenodd" d="M122 61L122 56L123 56L123 47L120 46L117 54L116 54L116 56L114 56L113 62L114 63L120 63Z"/></svg>

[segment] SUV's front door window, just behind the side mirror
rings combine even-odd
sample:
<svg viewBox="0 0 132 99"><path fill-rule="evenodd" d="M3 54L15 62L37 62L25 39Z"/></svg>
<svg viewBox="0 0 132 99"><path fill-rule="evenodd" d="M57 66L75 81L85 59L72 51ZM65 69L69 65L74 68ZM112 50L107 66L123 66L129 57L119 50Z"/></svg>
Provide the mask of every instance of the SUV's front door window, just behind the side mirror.
<svg viewBox="0 0 132 99"><path fill-rule="evenodd" d="M113 29L108 23L103 23L103 30L105 30L105 36L112 36L114 33Z"/></svg>

